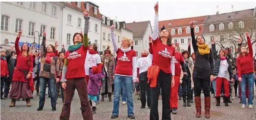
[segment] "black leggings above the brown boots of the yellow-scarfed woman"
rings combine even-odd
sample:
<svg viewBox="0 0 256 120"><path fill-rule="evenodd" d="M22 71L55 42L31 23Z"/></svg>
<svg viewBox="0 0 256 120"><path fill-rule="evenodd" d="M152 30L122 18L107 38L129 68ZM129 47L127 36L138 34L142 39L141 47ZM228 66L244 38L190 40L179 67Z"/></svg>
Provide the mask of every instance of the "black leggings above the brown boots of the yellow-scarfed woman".
<svg viewBox="0 0 256 120"><path fill-rule="evenodd" d="M204 80L199 78L193 78L193 80L194 80L195 97L201 96L201 89L203 89L205 97L210 97L210 89L211 89L210 80Z"/></svg>

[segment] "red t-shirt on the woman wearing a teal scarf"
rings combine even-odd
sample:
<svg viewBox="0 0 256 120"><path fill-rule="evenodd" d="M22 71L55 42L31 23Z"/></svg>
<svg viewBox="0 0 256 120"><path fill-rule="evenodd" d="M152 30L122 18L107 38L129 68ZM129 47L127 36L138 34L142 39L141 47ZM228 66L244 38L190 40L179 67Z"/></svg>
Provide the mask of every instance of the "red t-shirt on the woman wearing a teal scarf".
<svg viewBox="0 0 256 120"><path fill-rule="evenodd" d="M85 77L85 58L87 47L82 45L76 51L66 51L65 58L68 59L66 79Z"/></svg>

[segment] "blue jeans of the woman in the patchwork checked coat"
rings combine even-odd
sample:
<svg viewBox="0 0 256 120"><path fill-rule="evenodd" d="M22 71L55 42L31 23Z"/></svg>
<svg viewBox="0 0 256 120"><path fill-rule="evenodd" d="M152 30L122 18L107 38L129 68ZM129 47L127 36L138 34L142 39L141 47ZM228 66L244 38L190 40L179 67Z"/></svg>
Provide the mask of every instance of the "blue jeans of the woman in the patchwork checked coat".
<svg viewBox="0 0 256 120"><path fill-rule="evenodd" d="M51 107L56 107L56 80L45 77L39 77L40 80L40 95L39 95L39 107L44 107L45 102L45 90L48 83L48 89L50 89Z"/></svg>

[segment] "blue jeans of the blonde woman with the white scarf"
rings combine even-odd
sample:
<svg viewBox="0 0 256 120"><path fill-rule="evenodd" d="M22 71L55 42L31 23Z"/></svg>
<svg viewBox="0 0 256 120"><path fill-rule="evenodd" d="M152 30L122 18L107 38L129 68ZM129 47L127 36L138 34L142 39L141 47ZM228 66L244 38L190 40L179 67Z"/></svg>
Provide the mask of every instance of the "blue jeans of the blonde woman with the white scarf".
<svg viewBox="0 0 256 120"><path fill-rule="evenodd" d="M114 78L115 92L114 92L114 104L112 115L119 115L119 99L122 89L122 84L125 87L125 93L127 95L127 114L133 115L133 77L115 75Z"/></svg>

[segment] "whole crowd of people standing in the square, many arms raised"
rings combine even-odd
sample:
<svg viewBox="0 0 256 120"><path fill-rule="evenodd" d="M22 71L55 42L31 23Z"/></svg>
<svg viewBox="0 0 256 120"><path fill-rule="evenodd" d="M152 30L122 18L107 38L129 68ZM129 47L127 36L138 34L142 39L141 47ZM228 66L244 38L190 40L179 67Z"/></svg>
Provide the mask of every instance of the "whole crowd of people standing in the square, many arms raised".
<svg viewBox="0 0 256 120"><path fill-rule="evenodd" d="M112 102L111 118L119 117L119 99L127 104L127 116L135 119L133 113L133 91L141 101L141 108L150 109L150 120L159 120L158 99L162 100L162 120L171 120L171 113L177 114L178 99L183 99L183 107L191 107L193 99L196 117L201 117L201 92L204 94L205 117L210 118L211 88L216 106L225 106L237 96L241 108L253 108L254 66L253 49L250 34L247 37L248 49L238 39L238 56L233 57L231 49L215 48L215 39L210 47L202 35L195 37L193 22L190 22L192 46L180 51L179 43L173 43L170 31L164 27L158 36L158 3L154 6L155 20L152 37L149 36L149 50L143 50L139 59L133 50L133 41L123 37L121 46L114 37L114 25L111 26L111 40L116 58L109 47L99 55L98 46L88 42L89 14L83 13L84 32L73 35L74 45L68 50L62 46L58 52L58 43L46 46L46 31L43 32L41 50L35 51L24 43L19 48L22 31L18 32L15 46L9 50L1 48L1 99L11 98L9 107L14 107L20 99L30 107L33 92L39 96L37 111L44 108L45 93L51 98L52 111L56 111L58 98L62 98L63 108L60 120L69 120L70 105L77 89L82 117L93 120L96 106L108 97ZM136 84L135 84L136 83ZM9 92L9 88L11 89ZM237 87L238 86L238 87ZM39 90L40 88L40 90Z"/></svg>

